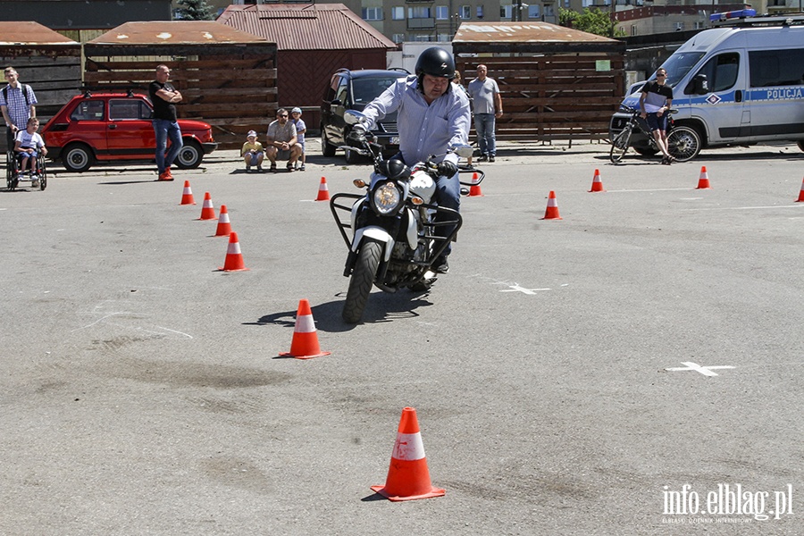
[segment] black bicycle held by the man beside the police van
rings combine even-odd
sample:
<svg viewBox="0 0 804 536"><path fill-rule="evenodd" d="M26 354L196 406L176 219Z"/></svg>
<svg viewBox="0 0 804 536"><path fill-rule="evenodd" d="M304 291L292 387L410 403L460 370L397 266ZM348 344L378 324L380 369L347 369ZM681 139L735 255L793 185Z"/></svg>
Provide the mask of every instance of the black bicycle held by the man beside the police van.
<svg viewBox="0 0 804 536"><path fill-rule="evenodd" d="M640 117L640 110L632 108L628 105L620 105L620 107L627 113L631 113L631 117L625 123L623 130L621 130L614 139L611 140L611 151L609 158L613 163L618 163L623 159L623 156L632 146L633 133L639 132L648 140L648 147L641 150L636 149L637 152L644 155L656 155L659 148L656 145L656 140L650 132L647 121ZM678 110L669 110L668 113L678 113ZM668 118L667 121L667 148L670 155L673 155L676 162L687 162L698 155L700 151L700 138L698 133L691 130L689 127L674 127L673 117Z"/></svg>

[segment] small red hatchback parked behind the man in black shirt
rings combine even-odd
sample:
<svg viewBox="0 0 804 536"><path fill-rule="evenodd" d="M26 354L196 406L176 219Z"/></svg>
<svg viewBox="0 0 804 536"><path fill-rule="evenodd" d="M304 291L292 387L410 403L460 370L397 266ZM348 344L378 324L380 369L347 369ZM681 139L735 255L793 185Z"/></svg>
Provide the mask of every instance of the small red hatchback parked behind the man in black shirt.
<svg viewBox="0 0 804 536"><path fill-rule="evenodd" d="M154 107L144 95L85 93L73 96L39 133L45 139L48 159L61 160L68 172L86 172L96 162L153 162L153 113ZM212 127L183 119L179 126L184 147L175 163L182 169L197 168L204 155L218 147Z"/></svg>

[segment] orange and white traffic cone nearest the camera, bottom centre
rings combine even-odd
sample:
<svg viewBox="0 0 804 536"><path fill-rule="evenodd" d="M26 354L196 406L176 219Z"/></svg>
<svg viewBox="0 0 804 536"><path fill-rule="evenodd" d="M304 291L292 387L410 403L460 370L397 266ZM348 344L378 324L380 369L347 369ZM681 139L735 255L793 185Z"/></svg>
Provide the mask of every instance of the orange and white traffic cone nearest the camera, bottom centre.
<svg viewBox="0 0 804 536"><path fill-rule="evenodd" d="M406 407L402 410L388 477L384 486L372 486L372 490L393 501L442 497L447 492L433 488L430 482L415 408Z"/></svg>

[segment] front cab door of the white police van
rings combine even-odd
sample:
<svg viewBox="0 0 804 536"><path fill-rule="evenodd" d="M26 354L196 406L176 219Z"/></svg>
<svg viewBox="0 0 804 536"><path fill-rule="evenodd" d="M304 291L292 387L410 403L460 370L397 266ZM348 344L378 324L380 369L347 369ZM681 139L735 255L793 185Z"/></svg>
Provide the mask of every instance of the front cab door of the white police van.
<svg viewBox="0 0 804 536"><path fill-rule="evenodd" d="M674 104L689 103L691 116L706 126L708 143L734 141L750 134L750 113L745 107L746 60L741 50L727 50L713 55L692 75L683 95ZM697 94L695 82L706 77L708 91ZM674 90L675 93L682 93ZM687 100L689 99L689 100ZM680 102L681 101L681 102Z"/></svg>

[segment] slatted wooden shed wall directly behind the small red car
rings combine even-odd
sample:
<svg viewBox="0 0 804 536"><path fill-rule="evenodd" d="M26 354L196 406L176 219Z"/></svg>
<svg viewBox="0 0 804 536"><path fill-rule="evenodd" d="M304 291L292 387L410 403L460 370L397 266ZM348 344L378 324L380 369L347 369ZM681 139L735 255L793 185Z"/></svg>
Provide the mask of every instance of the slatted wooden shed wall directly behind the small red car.
<svg viewBox="0 0 804 536"><path fill-rule="evenodd" d="M264 131L277 110L276 46L85 45L88 88L132 88L147 93L156 65L171 68L184 101L180 119L212 125L221 149L240 148L248 130Z"/></svg>

